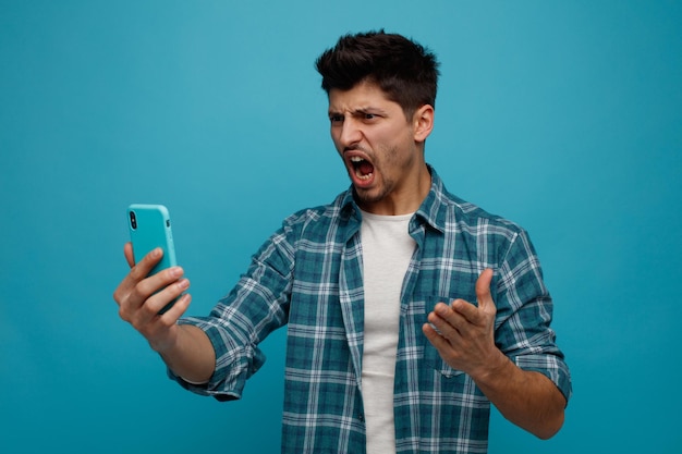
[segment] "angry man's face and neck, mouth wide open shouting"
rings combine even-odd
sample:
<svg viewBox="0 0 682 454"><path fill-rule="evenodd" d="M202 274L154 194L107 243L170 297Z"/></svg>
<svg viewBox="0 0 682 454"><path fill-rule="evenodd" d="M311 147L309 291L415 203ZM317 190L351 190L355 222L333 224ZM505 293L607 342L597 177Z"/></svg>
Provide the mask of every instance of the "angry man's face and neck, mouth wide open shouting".
<svg viewBox="0 0 682 454"><path fill-rule="evenodd" d="M406 205L416 210L423 198L419 179L428 171L415 140L417 125L405 119L400 105L365 82L350 90L329 91L329 120L360 207L378 214L401 214L397 211Z"/></svg>

